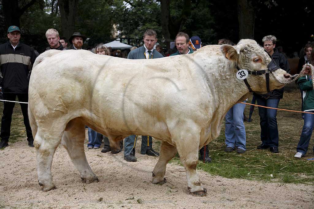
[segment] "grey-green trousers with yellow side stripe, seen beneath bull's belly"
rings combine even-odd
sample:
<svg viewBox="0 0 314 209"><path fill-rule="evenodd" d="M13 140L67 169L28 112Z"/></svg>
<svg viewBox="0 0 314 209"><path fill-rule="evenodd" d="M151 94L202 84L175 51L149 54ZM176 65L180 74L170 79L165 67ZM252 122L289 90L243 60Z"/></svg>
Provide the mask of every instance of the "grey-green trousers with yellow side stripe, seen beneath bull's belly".
<svg viewBox="0 0 314 209"><path fill-rule="evenodd" d="M131 135L124 139L124 156L131 153L135 156L135 145L137 135ZM153 139L151 136L142 136L141 154L146 154L148 149L152 149Z"/></svg>

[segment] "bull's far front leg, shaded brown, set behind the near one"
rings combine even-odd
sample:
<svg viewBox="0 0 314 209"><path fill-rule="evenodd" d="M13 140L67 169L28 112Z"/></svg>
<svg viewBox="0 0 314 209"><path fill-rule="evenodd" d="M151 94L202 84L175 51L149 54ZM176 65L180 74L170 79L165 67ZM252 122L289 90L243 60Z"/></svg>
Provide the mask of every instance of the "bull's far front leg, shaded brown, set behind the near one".
<svg viewBox="0 0 314 209"><path fill-rule="evenodd" d="M177 150L175 146L167 142L162 142L160 146L160 156L155 168L153 170L153 183L154 184L164 184L164 176L166 173L166 165L171 160Z"/></svg>

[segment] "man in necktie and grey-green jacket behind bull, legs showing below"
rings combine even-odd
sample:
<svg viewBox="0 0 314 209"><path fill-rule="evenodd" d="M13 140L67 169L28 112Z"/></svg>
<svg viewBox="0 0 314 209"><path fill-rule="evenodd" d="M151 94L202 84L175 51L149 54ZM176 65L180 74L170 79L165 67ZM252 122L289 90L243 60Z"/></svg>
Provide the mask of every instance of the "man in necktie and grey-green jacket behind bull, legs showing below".
<svg viewBox="0 0 314 209"><path fill-rule="evenodd" d="M158 51L154 50L154 45L157 42L157 33L148 29L143 35L144 45L132 50L128 55L127 59L156 59L162 58ZM131 135L124 139L124 159L128 162L136 162L135 157L135 145L137 135ZM141 154L148 154L150 156L159 156L159 153L154 151L152 148L152 137L142 136Z"/></svg>

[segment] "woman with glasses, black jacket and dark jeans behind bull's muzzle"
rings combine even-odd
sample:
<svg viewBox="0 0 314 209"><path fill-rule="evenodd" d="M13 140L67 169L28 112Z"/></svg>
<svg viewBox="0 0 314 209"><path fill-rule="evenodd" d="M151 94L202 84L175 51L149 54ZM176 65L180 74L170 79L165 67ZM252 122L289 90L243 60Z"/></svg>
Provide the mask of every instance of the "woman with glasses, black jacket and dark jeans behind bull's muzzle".
<svg viewBox="0 0 314 209"><path fill-rule="evenodd" d="M273 35L268 35L263 38L264 49L273 57L273 60L281 69L290 73L290 67L287 58L279 53L278 50L275 50L276 46L276 37ZM256 97L258 105L266 107L277 108L280 99L282 99L284 94L284 88L275 89L271 93L267 94L257 94L253 93ZM261 125L261 140L262 144L257 146L257 149L270 149L272 153L278 153L279 145L279 134L278 134L278 125L277 125L277 110L268 109L264 107L258 107L258 114L260 117Z"/></svg>

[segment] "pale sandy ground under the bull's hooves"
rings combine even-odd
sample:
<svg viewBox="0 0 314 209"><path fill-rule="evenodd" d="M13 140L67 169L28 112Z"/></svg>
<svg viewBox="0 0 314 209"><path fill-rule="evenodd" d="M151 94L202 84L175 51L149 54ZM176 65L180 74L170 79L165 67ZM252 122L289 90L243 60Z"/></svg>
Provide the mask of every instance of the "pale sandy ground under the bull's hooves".
<svg viewBox="0 0 314 209"><path fill-rule="evenodd" d="M140 140L139 140L140 142ZM206 197L192 196L182 166L168 164L164 185L154 185L157 157L139 153L138 162L119 154L87 149L98 183L85 184L59 146L52 163L56 190L42 192L37 182L35 149L27 141L0 150L0 208L314 208L314 188L308 185L226 179L198 171Z"/></svg>

